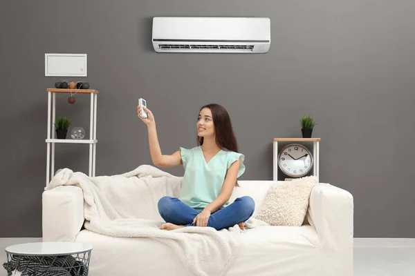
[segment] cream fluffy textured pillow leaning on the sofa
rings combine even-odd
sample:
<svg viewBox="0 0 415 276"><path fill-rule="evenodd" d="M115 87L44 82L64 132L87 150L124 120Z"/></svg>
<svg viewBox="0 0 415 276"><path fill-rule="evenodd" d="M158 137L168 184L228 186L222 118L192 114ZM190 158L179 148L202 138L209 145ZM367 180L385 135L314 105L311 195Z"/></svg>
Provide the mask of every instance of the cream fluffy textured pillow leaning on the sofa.
<svg viewBox="0 0 415 276"><path fill-rule="evenodd" d="M317 177L309 176L271 185L255 217L273 226L302 226Z"/></svg>

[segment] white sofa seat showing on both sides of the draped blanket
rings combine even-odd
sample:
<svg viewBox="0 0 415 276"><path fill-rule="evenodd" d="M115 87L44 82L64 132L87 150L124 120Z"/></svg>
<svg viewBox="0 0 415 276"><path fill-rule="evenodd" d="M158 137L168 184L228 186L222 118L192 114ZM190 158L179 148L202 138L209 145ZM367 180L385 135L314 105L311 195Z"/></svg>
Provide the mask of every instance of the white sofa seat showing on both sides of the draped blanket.
<svg viewBox="0 0 415 276"><path fill-rule="evenodd" d="M93 245L91 276L192 275L172 248L154 239L110 237L82 230L76 242ZM311 226L257 226L241 233L241 251L227 276L304 275L317 269L315 264L321 257L317 250L319 239Z"/></svg>

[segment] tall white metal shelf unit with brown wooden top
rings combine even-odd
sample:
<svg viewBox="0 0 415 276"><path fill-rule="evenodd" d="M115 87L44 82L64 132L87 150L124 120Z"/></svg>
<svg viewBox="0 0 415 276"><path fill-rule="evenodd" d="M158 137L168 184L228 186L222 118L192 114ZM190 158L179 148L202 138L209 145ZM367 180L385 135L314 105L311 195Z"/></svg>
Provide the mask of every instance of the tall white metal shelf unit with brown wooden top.
<svg viewBox="0 0 415 276"><path fill-rule="evenodd" d="M79 89L55 89L48 88L48 133L46 138L46 186L50 179L55 175L55 144L89 144L89 176L95 177L95 155L97 137L97 96L98 90L79 90ZM77 93L90 94L91 110L89 115L89 139L56 139L55 120L56 120L56 93ZM45 187L46 187L45 186Z"/></svg>

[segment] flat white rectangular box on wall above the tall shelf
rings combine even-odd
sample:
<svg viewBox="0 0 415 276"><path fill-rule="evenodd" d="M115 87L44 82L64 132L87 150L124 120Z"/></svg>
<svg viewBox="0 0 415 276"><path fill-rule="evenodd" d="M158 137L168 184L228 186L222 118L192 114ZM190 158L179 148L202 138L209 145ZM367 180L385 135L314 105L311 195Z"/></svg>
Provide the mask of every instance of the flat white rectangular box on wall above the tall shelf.
<svg viewBox="0 0 415 276"><path fill-rule="evenodd" d="M86 54L45 54L46 77L86 77Z"/></svg>

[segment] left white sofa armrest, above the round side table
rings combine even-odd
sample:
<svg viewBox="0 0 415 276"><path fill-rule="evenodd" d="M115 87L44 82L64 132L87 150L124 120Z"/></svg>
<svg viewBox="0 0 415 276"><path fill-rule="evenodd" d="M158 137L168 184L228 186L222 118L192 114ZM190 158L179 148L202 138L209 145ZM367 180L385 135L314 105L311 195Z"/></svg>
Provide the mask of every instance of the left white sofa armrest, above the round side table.
<svg viewBox="0 0 415 276"><path fill-rule="evenodd" d="M84 224L84 195L77 186L59 186L42 194L44 242L74 242Z"/></svg>

